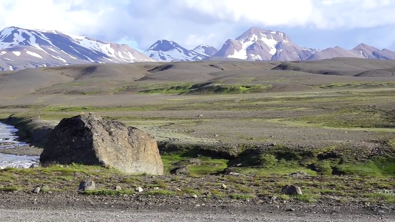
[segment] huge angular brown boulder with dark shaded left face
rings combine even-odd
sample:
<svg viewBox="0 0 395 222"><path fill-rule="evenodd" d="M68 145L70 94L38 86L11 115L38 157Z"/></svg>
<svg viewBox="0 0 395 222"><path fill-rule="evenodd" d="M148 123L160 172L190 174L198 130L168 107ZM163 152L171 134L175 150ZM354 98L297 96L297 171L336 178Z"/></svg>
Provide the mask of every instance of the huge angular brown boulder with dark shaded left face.
<svg viewBox="0 0 395 222"><path fill-rule="evenodd" d="M41 166L71 163L109 166L133 174L163 174L153 136L92 114L62 119L40 155Z"/></svg>

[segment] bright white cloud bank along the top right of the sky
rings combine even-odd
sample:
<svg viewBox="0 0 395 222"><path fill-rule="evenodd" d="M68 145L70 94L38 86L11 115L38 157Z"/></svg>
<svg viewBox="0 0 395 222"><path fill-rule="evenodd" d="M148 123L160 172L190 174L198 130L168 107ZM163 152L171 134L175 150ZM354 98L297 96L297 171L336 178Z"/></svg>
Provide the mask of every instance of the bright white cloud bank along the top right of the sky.
<svg viewBox="0 0 395 222"><path fill-rule="evenodd" d="M370 28L395 24L391 0L282 0L240 4L239 0L175 0L181 8L195 10L230 23L262 26L313 26L320 29Z"/></svg>

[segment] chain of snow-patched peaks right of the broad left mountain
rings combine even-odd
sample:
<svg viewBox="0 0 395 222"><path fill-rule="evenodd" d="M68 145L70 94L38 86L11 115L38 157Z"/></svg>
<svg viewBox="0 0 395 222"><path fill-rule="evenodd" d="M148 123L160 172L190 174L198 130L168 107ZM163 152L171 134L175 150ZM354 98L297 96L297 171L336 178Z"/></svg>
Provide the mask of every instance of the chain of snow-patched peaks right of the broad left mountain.
<svg viewBox="0 0 395 222"><path fill-rule="evenodd" d="M159 61L197 61L216 58L237 58L243 60L296 61L321 60L335 57L369 59L395 59L395 52L376 49L359 44L354 49L330 47L324 50L301 47L284 32L250 28L236 39L227 40L220 50L208 45L199 45L188 50L173 41L160 40L145 51L145 55Z"/></svg>

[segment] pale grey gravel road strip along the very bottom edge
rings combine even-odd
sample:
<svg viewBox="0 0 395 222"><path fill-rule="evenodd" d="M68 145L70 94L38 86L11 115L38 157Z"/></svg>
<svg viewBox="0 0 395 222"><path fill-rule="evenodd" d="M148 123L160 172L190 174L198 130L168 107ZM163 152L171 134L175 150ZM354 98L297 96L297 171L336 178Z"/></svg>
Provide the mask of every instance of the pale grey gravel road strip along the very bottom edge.
<svg viewBox="0 0 395 222"><path fill-rule="evenodd" d="M393 216L366 215L278 215L261 213L192 213L192 212L139 212L139 211L109 211L106 209L84 210L49 210L49 209L2 209L1 221L9 222L37 222L37 221L128 221L128 222L182 222L182 221L272 221L272 222L381 222L394 221Z"/></svg>

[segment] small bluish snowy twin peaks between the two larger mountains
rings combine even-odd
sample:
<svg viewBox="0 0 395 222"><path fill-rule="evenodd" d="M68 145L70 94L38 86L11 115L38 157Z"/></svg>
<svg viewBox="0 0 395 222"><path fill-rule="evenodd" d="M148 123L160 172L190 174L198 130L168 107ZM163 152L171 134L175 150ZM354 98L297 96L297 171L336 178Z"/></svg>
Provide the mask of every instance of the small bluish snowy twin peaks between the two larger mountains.
<svg viewBox="0 0 395 222"><path fill-rule="evenodd" d="M174 41L158 40L144 54L157 61L198 61L210 57L209 54L215 50L209 45L199 45L188 50Z"/></svg>

